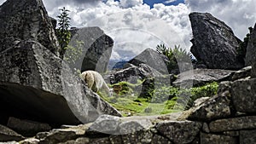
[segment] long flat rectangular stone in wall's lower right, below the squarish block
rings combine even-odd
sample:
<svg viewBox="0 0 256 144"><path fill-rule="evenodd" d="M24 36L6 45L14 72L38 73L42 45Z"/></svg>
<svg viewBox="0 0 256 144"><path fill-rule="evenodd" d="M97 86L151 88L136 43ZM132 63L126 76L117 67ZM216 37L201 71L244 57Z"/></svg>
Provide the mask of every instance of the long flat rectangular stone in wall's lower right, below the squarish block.
<svg viewBox="0 0 256 144"><path fill-rule="evenodd" d="M209 128L211 132L256 129L256 116L218 119L212 121Z"/></svg>

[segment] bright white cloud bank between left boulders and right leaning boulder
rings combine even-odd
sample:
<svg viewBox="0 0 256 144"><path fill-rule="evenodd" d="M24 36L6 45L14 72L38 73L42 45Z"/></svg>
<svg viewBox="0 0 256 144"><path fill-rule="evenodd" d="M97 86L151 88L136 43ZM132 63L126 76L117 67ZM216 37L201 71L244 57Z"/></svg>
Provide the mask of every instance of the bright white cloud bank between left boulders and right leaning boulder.
<svg viewBox="0 0 256 144"><path fill-rule="evenodd" d="M184 49L190 48L189 9L184 4L155 4L154 9L143 4L143 0L108 0L93 4L86 9L74 3L62 3L61 6L71 10L73 26L99 26L113 37L113 59L122 56L128 59L164 42L172 47L181 44ZM45 5L50 15L58 14L58 9L49 9L48 3Z"/></svg>

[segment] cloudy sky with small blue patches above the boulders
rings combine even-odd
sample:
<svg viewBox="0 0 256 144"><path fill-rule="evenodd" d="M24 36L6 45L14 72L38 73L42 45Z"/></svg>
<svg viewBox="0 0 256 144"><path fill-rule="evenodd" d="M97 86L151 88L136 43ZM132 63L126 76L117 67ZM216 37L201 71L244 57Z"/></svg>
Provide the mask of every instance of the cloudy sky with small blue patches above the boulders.
<svg viewBox="0 0 256 144"><path fill-rule="evenodd" d="M256 22L255 0L43 0L49 15L67 7L72 26L100 26L113 37L112 59L129 59L159 43L190 48L189 13L209 12L239 38ZM0 0L3 3L3 0Z"/></svg>

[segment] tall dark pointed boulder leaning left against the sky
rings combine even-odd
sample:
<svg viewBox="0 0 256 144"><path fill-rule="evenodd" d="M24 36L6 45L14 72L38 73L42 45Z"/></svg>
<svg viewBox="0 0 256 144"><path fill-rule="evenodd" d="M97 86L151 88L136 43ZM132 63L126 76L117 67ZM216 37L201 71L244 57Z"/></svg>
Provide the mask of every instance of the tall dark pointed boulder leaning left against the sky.
<svg viewBox="0 0 256 144"><path fill-rule="evenodd" d="M193 31L191 52L207 68L240 69L243 62L237 59L236 48L240 40L229 26L208 13L191 13Z"/></svg>

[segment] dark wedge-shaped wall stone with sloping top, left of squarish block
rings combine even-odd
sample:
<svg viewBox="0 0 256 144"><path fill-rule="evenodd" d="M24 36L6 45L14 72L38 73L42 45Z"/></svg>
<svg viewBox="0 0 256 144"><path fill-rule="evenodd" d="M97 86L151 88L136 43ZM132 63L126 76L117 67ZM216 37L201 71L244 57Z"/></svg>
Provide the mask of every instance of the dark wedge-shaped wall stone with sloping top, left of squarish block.
<svg viewBox="0 0 256 144"><path fill-rule="evenodd" d="M229 91L213 96L199 107L192 107L189 110L188 119L210 121L230 116L230 97Z"/></svg>

